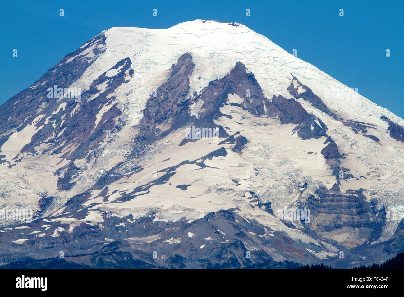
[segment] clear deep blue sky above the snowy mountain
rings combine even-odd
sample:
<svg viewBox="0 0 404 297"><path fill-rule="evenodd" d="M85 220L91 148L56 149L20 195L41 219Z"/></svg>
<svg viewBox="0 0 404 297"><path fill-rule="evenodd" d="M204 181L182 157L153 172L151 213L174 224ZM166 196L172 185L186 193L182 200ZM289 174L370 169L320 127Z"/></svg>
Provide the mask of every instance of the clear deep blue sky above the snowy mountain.
<svg viewBox="0 0 404 297"><path fill-rule="evenodd" d="M403 1L388 0L0 0L0 103L110 27L167 28L214 19L242 23L290 53L296 48L300 59L404 118L403 10Z"/></svg>

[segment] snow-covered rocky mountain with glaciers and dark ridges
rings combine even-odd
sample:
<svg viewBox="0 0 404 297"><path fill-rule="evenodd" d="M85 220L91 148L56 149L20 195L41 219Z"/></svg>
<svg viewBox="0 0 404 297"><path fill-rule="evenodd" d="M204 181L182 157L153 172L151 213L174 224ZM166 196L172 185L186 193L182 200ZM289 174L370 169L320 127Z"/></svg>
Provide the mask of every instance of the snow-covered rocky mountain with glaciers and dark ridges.
<svg viewBox="0 0 404 297"><path fill-rule="evenodd" d="M239 23L105 30L0 109L1 265L404 250L404 121Z"/></svg>

